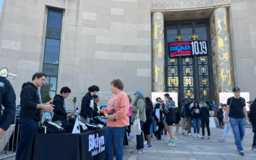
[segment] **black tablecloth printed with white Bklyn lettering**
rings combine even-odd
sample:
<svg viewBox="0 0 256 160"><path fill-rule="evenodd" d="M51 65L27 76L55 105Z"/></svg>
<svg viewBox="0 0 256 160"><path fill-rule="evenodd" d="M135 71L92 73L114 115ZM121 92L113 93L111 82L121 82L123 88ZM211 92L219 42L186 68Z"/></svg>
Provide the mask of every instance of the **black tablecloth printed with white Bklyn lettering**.
<svg viewBox="0 0 256 160"><path fill-rule="evenodd" d="M105 159L107 127L81 134L34 133L20 160L101 160ZM102 137L103 136L103 137ZM128 145L127 135L124 145ZM113 146L115 153L115 146Z"/></svg>

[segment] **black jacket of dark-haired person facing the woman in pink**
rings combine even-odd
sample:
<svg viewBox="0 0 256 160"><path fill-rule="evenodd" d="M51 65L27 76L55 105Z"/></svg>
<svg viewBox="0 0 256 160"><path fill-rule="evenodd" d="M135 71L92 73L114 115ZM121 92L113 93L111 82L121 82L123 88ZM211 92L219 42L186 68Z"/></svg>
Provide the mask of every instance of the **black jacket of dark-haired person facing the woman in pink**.
<svg viewBox="0 0 256 160"><path fill-rule="evenodd" d="M82 99L80 116L86 118L93 118L93 109L90 108L91 100L93 100L90 92L87 92Z"/></svg>

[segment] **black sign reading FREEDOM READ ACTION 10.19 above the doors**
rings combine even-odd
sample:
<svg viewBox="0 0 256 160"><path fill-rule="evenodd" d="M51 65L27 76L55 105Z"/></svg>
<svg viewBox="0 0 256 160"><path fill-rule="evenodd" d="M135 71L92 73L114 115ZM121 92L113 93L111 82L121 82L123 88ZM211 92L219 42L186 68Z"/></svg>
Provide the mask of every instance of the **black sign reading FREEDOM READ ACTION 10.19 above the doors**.
<svg viewBox="0 0 256 160"><path fill-rule="evenodd" d="M204 40L194 40L191 42L174 42L168 44L169 56L195 56L207 54L207 42Z"/></svg>

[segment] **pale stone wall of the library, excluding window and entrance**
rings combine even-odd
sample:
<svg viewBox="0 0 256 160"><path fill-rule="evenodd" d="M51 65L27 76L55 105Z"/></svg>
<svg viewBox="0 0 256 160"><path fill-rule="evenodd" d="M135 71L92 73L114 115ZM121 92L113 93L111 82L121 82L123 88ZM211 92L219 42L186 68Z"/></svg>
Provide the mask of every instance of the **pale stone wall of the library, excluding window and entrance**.
<svg viewBox="0 0 256 160"><path fill-rule="evenodd" d="M156 3L162 7L156 8ZM64 10L57 91L63 86L71 88L67 100L70 108L72 98L81 97L92 84L100 87L102 99L108 99L109 83L116 78L122 79L124 91L130 95L141 90L151 97L151 13L223 6L229 14L234 86L250 92L254 99L254 0L4 0L0 19L0 68L6 67L17 74L17 79L10 80L17 104L22 83L31 81L35 72L42 71L47 6Z"/></svg>

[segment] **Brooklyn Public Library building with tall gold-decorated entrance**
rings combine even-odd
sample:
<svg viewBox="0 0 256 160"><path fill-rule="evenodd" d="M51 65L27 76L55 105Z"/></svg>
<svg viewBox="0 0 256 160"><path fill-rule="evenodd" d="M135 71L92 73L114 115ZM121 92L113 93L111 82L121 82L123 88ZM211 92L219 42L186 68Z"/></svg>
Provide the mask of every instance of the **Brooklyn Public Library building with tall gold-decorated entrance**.
<svg viewBox="0 0 256 160"><path fill-rule="evenodd" d="M47 75L42 96L72 90L70 110L93 84L106 105L117 78L128 95L177 92L179 105L235 86L254 99L255 10L254 0L4 0L0 68L17 74L17 104L35 72Z"/></svg>

